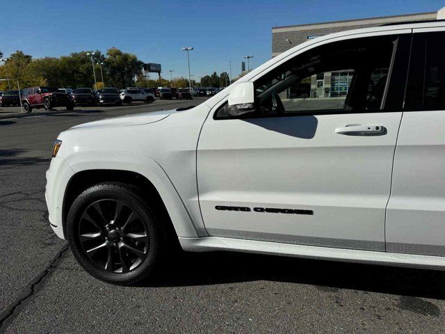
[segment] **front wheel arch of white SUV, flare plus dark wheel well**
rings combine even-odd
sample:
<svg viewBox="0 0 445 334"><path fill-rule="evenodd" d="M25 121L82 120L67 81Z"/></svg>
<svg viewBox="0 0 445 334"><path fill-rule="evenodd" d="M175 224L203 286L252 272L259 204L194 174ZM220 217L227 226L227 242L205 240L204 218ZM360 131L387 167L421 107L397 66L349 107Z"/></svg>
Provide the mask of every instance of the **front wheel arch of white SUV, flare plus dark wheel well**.
<svg viewBox="0 0 445 334"><path fill-rule="evenodd" d="M179 193L156 161L148 157L133 157L133 154L123 152L115 152L119 154L120 161L111 161L115 158L115 153L108 152L105 156L100 153L71 154L67 157L74 175L68 181L63 196L64 235L66 235L65 222L70 206L83 190L97 183L122 182L137 186L146 200L154 200L156 208L165 214L166 220L170 222L177 237L198 236ZM81 159L79 159L80 156L82 156ZM107 159L104 160L104 157Z"/></svg>

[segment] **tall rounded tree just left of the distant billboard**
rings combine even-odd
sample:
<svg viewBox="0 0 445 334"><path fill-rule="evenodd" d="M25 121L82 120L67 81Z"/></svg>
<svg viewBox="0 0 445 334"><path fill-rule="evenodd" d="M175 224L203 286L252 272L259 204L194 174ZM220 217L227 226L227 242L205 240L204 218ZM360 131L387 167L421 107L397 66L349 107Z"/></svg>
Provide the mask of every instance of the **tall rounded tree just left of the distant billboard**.
<svg viewBox="0 0 445 334"><path fill-rule="evenodd" d="M108 86L118 88L134 86L134 78L142 75L142 67L143 62L134 54L122 52L115 47L106 52L104 69Z"/></svg>

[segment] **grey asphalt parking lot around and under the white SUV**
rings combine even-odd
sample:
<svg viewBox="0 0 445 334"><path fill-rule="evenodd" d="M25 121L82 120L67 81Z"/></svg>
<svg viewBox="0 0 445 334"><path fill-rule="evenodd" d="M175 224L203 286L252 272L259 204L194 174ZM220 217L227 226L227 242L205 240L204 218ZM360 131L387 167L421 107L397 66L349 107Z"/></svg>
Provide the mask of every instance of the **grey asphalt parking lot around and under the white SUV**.
<svg viewBox="0 0 445 334"><path fill-rule="evenodd" d="M441 271L238 253L180 254L137 287L83 271L47 221L58 133L200 102L0 120L0 333L444 333Z"/></svg>

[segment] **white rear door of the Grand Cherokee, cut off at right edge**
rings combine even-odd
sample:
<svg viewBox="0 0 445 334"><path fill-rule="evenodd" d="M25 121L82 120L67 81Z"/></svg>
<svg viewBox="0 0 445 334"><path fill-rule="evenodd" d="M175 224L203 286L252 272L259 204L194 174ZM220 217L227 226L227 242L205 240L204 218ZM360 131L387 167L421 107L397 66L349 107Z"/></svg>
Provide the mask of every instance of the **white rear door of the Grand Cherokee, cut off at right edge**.
<svg viewBox="0 0 445 334"><path fill-rule="evenodd" d="M445 256L445 28L414 29L387 251Z"/></svg>

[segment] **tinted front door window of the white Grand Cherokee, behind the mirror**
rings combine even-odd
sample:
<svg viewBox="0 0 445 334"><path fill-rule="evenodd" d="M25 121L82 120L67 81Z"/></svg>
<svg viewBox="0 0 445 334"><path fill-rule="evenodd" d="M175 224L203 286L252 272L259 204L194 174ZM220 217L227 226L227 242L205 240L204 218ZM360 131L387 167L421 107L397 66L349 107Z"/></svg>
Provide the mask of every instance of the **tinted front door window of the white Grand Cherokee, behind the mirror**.
<svg viewBox="0 0 445 334"><path fill-rule="evenodd" d="M254 82L257 111L248 117L384 109L398 39L357 38L296 56ZM220 110L216 118L228 116Z"/></svg>

